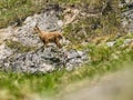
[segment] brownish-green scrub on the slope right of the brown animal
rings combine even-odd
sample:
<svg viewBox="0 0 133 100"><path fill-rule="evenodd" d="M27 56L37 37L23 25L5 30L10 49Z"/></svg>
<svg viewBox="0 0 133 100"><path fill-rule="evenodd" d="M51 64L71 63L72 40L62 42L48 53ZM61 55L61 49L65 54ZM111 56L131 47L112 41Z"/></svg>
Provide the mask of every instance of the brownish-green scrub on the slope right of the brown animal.
<svg viewBox="0 0 133 100"><path fill-rule="evenodd" d="M65 26L63 29L64 36L71 42L76 44L90 41L98 36L114 36L124 32L121 28L121 9L117 0L111 0L110 4L104 0L90 0L85 4L83 3L79 8L86 14L80 14L75 19L76 21Z"/></svg>

